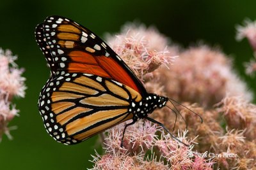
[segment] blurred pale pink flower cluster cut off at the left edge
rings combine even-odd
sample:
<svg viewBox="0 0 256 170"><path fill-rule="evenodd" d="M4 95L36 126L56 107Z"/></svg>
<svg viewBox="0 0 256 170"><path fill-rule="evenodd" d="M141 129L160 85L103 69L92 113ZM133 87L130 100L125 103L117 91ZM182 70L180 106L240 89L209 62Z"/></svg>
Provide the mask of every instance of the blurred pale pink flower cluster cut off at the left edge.
<svg viewBox="0 0 256 170"><path fill-rule="evenodd" d="M8 122L19 112L11 104L13 96L25 96L25 78L21 76L23 69L18 69L14 62L16 59L10 50L0 48L0 139L3 134L12 138Z"/></svg>

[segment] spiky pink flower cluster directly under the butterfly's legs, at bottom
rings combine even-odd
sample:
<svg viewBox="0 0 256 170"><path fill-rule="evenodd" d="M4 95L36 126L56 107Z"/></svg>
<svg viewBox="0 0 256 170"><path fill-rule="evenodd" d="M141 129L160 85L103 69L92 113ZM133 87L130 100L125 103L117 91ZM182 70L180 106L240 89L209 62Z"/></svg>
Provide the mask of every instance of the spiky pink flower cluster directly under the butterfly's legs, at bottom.
<svg viewBox="0 0 256 170"><path fill-rule="evenodd" d="M187 147L173 141L170 134L165 134L162 128L147 120L140 120L127 128L124 148L121 148L124 124L107 131L106 154L93 156L93 169L212 169L211 162L194 156L193 145ZM187 132L178 134L177 138L193 143L193 140L186 138Z"/></svg>

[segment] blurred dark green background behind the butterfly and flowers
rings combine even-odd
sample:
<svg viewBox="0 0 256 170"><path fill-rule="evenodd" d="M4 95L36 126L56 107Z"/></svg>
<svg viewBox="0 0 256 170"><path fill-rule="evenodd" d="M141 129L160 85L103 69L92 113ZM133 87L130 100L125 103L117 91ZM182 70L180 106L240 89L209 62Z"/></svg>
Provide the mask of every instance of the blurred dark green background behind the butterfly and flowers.
<svg viewBox="0 0 256 170"><path fill-rule="evenodd" d="M155 25L175 43L186 47L200 40L220 46L234 59L236 71L255 92L255 79L244 75L243 62L253 57L246 40L235 40L235 25L244 18L256 19L256 1L0 1L0 47L19 55L17 64L26 69L26 97L15 99L20 117L10 126L13 140L3 136L0 169L85 169L99 152L97 137L75 146L56 143L45 131L37 109L38 94L49 78L49 69L35 43L36 24L49 15L62 15L88 27L97 35L118 32L127 21ZM1 74L1 73L0 73Z"/></svg>

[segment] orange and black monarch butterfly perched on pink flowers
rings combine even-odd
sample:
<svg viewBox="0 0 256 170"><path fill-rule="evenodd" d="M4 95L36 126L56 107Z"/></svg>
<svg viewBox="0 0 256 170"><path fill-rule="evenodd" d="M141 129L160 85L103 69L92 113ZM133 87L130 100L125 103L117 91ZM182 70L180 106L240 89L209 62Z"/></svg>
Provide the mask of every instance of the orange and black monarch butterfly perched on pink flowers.
<svg viewBox="0 0 256 170"><path fill-rule="evenodd" d="M35 37L51 68L38 109L46 131L56 141L76 144L131 119L124 132L140 118L164 127L148 114L163 108L169 99L149 94L92 31L68 18L51 16L36 26Z"/></svg>

